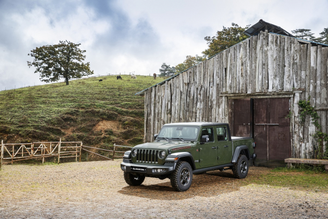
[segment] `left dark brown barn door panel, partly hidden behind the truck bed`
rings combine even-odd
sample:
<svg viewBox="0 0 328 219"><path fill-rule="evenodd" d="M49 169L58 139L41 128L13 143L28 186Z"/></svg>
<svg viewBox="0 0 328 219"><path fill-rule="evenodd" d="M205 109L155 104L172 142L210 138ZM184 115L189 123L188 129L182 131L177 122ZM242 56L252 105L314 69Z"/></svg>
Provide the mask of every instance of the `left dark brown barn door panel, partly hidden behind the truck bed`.
<svg viewBox="0 0 328 219"><path fill-rule="evenodd" d="M253 136L253 99L231 99L233 106L232 135Z"/></svg>

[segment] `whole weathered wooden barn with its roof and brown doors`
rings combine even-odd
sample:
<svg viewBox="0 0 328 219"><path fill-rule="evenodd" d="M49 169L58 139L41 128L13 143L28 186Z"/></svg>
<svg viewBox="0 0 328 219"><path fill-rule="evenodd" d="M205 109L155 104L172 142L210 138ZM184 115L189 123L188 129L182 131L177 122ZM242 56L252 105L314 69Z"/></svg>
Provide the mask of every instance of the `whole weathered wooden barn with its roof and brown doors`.
<svg viewBox="0 0 328 219"><path fill-rule="evenodd" d="M254 137L255 164L313 158L316 127L301 123L298 103L310 98L327 132L328 45L262 20L245 33L251 37L137 93L145 95L145 142L166 123L222 122Z"/></svg>

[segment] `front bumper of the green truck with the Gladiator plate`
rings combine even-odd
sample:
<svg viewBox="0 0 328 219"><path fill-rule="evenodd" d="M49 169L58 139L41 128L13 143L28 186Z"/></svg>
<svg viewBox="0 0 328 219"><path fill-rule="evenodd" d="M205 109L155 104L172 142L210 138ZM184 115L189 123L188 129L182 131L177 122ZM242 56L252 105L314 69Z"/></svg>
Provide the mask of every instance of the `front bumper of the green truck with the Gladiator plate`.
<svg viewBox="0 0 328 219"><path fill-rule="evenodd" d="M131 161L130 161L131 162ZM168 175L175 170L176 163L165 163L164 165L139 164L123 161L121 170L134 174L142 174L149 176Z"/></svg>

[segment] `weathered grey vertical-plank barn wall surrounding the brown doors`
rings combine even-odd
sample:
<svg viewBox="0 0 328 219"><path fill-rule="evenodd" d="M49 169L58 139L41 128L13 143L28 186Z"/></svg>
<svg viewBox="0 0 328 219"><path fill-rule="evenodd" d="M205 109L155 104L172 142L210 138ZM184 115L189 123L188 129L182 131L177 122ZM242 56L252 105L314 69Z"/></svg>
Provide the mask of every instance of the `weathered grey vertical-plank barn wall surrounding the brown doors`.
<svg viewBox="0 0 328 219"><path fill-rule="evenodd" d="M328 47L261 32L145 92L145 142L178 122L229 123L228 98L291 97L291 157L312 158L316 128L299 122L298 102L310 97L327 131ZM277 95L278 94L278 95ZM234 97L232 97L234 96ZM253 96L253 97L254 97Z"/></svg>

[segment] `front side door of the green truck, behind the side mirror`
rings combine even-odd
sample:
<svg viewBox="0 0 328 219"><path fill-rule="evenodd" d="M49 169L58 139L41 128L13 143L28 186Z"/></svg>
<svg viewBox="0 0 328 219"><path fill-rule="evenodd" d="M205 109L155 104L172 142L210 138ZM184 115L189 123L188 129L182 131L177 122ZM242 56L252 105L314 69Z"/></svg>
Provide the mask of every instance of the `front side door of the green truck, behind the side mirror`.
<svg viewBox="0 0 328 219"><path fill-rule="evenodd" d="M199 166L214 166L217 161L217 145L214 141L213 127L202 127L200 140L202 135L209 135L210 141L200 145Z"/></svg>

